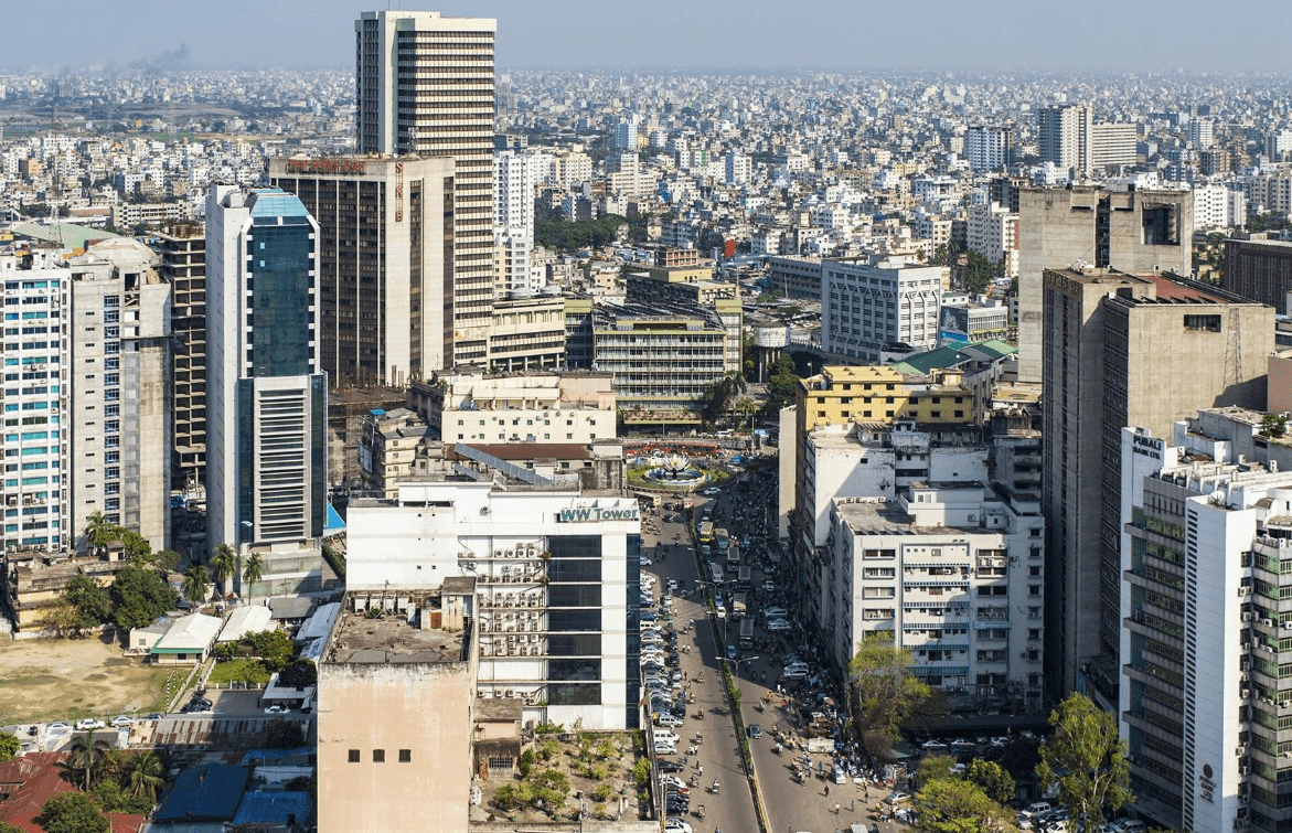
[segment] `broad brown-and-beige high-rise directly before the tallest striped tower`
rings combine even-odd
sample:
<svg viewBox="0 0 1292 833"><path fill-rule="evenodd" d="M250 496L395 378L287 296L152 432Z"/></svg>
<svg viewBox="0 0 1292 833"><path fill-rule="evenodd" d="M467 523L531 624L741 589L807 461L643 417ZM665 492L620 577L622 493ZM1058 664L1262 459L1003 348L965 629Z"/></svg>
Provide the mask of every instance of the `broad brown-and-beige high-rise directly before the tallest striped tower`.
<svg viewBox="0 0 1292 833"><path fill-rule="evenodd" d="M319 225L319 369L333 389L406 385L452 356L453 163L271 159Z"/></svg>

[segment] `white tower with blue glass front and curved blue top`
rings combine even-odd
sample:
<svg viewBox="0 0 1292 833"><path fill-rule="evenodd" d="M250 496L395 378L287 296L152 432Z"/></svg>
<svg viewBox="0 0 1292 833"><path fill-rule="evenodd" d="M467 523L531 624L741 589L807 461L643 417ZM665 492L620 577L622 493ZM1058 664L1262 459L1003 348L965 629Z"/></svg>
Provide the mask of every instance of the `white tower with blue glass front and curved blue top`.
<svg viewBox="0 0 1292 833"><path fill-rule="evenodd" d="M207 540L298 545L327 511L319 225L280 189L207 199Z"/></svg>

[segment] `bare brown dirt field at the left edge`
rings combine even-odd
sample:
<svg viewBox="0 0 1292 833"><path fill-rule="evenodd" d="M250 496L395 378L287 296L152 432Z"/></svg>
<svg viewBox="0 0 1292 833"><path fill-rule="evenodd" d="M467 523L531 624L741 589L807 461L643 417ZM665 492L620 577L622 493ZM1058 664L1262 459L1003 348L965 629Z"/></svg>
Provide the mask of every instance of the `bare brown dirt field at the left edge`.
<svg viewBox="0 0 1292 833"><path fill-rule="evenodd" d="M152 712L168 678L178 686L189 670L145 665L97 637L0 639L0 726Z"/></svg>

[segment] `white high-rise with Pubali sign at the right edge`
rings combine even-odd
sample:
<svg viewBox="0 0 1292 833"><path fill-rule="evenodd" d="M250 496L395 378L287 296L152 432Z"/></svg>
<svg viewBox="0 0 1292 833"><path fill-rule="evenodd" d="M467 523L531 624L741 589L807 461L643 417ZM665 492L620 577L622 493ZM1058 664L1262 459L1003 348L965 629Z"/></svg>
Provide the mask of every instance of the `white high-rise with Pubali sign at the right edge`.
<svg viewBox="0 0 1292 833"><path fill-rule="evenodd" d="M1216 408L1168 438L1121 431L1118 714L1136 808L1155 827L1287 825L1292 447L1262 416Z"/></svg>

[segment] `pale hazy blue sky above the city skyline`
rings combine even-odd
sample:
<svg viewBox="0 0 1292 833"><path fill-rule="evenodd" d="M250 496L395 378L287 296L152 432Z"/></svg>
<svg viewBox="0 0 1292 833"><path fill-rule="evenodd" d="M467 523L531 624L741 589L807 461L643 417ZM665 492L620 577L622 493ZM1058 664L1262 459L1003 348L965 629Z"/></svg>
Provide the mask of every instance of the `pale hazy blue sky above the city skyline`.
<svg viewBox="0 0 1292 833"><path fill-rule="evenodd" d="M354 0L0 0L0 66L353 67ZM391 0L497 18L497 66L1292 71L1287 0Z"/></svg>

